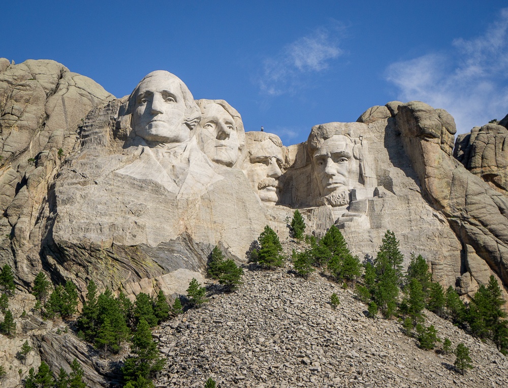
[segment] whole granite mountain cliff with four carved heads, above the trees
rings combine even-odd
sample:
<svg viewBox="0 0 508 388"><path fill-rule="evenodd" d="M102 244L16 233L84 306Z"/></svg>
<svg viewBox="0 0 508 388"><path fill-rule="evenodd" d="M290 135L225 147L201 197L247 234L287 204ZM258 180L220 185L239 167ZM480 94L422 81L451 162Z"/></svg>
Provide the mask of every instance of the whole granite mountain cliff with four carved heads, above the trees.
<svg viewBox="0 0 508 388"><path fill-rule="evenodd" d="M284 146L167 71L117 99L57 62L0 59L0 262L26 288L44 270L176 296L215 245L245 262L299 209L362 258L391 230L444 286L471 296L492 274L508 297L507 121L454 142L448 112L394 101Z"/></svg>

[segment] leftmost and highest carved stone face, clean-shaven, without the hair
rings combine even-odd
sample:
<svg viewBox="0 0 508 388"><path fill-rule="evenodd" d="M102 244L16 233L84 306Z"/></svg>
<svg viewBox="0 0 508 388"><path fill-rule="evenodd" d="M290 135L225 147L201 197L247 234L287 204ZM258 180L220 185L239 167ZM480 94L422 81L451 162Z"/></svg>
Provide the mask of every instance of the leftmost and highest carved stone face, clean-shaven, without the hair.
<svg viewBox="0 0 508 388"><path fill-rule="evenodd" d="M180 82L171 74L161 74L140 83L132 113L132 127L137 136L160 143L181 143L189 139Z"/></svg>

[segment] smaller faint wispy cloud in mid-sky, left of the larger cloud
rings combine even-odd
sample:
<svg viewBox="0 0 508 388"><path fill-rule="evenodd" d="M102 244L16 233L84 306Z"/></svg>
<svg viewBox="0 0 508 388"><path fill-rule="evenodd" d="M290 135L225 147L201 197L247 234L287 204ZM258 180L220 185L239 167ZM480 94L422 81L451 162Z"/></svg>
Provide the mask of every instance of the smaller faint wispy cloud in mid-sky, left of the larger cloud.
<svg viewBox="0 0 508 388"><path fill-rule="evenodd" d="M320 27L285 46L273 58L263 61L260 91L272 96L291 93L301 87L304 77L322 72L331 60L343 54L338 35L342 27Z"/></svg>

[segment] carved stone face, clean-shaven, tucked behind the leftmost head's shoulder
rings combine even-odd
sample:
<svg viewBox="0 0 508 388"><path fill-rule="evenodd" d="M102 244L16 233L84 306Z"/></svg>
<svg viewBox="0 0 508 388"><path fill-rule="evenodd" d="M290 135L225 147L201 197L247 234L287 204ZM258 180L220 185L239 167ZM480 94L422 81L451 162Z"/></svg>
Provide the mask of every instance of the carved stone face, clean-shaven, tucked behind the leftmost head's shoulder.
<svg viewBox="0 0 508 388"><path fill-rule="evenodd" d="M236 163L240 142L235 120L226 109L214 103L205 105L197 130L203 152L210 159L228 167Z"/></svg>

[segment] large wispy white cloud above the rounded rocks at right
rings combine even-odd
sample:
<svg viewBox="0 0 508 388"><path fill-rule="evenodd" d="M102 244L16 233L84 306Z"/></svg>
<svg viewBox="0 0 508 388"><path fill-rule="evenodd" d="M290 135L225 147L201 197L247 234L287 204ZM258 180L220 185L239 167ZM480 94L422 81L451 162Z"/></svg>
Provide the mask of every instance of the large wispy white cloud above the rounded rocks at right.
<svg viewBox="0 0 508 388"><path fill-rule="evenodd" d="M392 63L387 79L402 101L420 100L444 108L458 133L508 113L508 8L484 34L455 39L446 53Z"/></svg>

